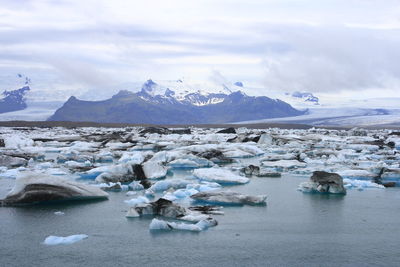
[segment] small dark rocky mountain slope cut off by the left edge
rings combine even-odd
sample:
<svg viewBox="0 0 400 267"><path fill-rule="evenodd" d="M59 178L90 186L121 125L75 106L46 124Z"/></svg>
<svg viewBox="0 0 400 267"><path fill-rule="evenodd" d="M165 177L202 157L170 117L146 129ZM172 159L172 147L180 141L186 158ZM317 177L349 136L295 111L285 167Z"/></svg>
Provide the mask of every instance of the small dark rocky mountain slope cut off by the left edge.
<svg viewBox="0 0 400 267"><path fill-rule="evenodd" d="M4 97L0 99L0 113L23 110L27 108L25 94L29 90L29 86L24 86L18 90L4 91Z"/></svg>

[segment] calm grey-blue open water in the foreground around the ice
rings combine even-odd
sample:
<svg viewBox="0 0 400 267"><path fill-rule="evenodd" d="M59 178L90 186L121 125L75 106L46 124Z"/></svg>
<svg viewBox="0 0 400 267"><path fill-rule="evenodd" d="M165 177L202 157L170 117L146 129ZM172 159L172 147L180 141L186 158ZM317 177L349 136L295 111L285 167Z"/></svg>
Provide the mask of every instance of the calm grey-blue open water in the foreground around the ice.
<svg viewBox="0 0 400 267"><path fill-rule="evenodd" d="M252 178L230 189L267 194L267 206L225 207L200 233L150 232L152 217L126 219L129 199L0 208L0 266L399 266L400 190L296 191L306 177ZM0 180L1 196L12 180ZM65 215L55 215L55 211ZM87 234L46 246L49 235Z"/></svg>

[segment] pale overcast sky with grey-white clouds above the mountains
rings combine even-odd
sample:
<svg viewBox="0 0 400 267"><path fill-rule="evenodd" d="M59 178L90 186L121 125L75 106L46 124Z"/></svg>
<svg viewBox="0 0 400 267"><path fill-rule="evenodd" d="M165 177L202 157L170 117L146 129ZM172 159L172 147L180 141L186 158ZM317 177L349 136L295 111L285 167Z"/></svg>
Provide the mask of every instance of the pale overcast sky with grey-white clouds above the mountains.
<svg viewBox="0 0 400 267"><path fill-rule="evenodd" d="M0 90L17 73L49 95L218 74L257 95L400 97L400 1L0 0Z"/></svg>

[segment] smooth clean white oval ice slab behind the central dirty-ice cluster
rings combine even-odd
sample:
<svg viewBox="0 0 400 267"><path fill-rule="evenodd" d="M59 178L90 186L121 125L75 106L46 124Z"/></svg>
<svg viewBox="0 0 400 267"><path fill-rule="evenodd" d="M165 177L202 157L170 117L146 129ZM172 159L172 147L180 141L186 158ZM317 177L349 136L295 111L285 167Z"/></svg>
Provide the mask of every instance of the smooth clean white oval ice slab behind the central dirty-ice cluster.
<svg viewBox="0 0 400 267"><path fill-rule="evenodd" d="M233 172L220 168L196 169L193 175L200 180L216 182L219 184L245 184L250 180Z"/></svg>

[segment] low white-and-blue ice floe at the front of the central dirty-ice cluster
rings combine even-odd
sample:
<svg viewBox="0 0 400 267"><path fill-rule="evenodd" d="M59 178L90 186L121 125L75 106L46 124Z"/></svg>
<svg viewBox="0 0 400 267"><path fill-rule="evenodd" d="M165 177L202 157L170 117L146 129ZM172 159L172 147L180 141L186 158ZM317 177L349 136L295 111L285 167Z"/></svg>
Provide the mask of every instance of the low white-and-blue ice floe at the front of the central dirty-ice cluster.
<svg viewBox="0 0 400 267"><path fill-rule="evenodd" d="M195 224L191 223L176 223L168 222L159 219L153 219L150 223L150 230L183 230L201 232L207 230L209 227L215 226L214 220L201 220Z"/></svg>

